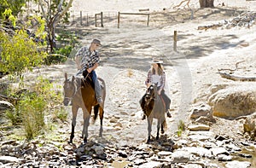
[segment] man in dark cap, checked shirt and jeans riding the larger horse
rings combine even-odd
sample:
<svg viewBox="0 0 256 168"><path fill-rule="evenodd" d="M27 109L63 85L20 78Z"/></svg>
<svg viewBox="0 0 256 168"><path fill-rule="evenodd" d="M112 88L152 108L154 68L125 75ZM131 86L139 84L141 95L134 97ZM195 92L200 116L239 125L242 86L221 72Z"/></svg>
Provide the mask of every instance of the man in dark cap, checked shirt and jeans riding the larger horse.
<svg viewBox="0 0 256 168"><path fill-rule="evenodd" d="M78 53L75 55L75 61L78 66L79 72L77 75L82 74L84 78L91 75L93 84L95 85L96 100L98 104L102 107L102 89L96 76L95 69L100 63L100 55L96 49L102 46L98 39L93 39L90 46L84 46L79 49Z"/></svg>

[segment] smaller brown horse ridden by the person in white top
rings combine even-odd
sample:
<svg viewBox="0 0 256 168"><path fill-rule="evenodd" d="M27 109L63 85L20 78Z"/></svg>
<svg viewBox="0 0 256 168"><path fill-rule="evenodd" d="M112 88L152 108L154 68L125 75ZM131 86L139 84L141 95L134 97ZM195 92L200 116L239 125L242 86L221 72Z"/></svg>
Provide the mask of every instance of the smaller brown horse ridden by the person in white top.
<svg viewBox="0 0 256 168"><path fill-rule="evenodd" d="M148 120L148 141L150 142L150 136L152 131L153 119L157 119L157 135L156 139L159 139L159 131L161 126L161 133L165 133L167 129L166 124L166 107L164 100L157 93L156 84L151 84L146 91L145 96L143 96L143 111L147 116ZM141 101L141 103L142 103Z"/></svg>

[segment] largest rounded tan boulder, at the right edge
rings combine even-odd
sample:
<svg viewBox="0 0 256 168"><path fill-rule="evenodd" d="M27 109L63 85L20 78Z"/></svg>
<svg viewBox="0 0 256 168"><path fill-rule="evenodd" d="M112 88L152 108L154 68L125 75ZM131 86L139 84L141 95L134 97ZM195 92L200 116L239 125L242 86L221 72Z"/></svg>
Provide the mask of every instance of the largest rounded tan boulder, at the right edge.
<svg viewBox="0 0 256 168"><path fill-rule="evenodd" d="M213 116L224 119L236 119L256 111L256 86L244 83L218 90L209 97Z"/></svg>

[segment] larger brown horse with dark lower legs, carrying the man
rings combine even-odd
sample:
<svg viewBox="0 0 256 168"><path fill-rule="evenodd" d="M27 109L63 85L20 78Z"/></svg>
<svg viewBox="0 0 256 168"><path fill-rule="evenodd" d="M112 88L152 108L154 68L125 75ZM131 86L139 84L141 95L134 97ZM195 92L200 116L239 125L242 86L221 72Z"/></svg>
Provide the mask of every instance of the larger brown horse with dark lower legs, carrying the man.
<svg viewBox="0 0 256 168"><path fill-rule="evenodd" d="M98 78L98 80L102 86L102 99L103 99L103 107L104 107L104 101L106 97L106 85L102 78ZM92 111L92 107L94 108L93 123L95 122L98 113L100 115L101 127L100 127L99 136L102 136L102 131L103 131L102 120L103 120L104 110L103 110L103 107L100 107L96 101L94 84L91 78L87 77L84 79L84 78L78 78L74 76L72 78L67 78L67 73L65 73L65 81L64 81L63 89L64 89L64 101L63 101L64 105L67 106L70 102L72 103L73 119L72 119L72 130L71 130L71 136L70 136L69 142L73 143L74 128L76 125L76 119L77 119L79 108L82 108L83 110L84 128L82 131L82 137L84 137L84 143L87 142L88 126L90 124L90 114Z"/></svg>

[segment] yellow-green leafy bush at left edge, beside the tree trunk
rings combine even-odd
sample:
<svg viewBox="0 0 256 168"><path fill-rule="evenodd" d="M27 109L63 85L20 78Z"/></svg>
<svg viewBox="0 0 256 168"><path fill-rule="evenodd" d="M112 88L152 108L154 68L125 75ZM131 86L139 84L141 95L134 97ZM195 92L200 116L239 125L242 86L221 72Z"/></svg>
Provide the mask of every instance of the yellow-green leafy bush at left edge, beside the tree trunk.
<svg viewBox="0 0 256 168"><path fill-rule="evenodd" d="M26 70L41 65L45 55L38 51L37 44L22 30L13 37L0 32L0 49L0 72L9 72L20 78Z"/></svg>

